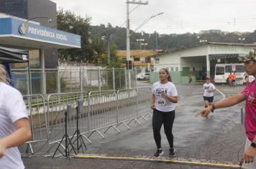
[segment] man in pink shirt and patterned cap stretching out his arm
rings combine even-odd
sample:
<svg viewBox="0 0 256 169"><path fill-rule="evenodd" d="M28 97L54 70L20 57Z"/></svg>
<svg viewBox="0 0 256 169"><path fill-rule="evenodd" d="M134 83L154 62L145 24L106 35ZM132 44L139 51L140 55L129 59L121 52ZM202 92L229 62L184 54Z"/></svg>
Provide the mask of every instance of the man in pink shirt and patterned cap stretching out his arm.
<svg viewBox="0 0 256 169"><path fill-rule="evenodd" d="M244 62L244 70L248 75L252 75L256 79L256 50L250 52L245 57L239 57ZM216 102L216 104L206 107L198 115L207 117L211 111L215 109L230 107L237 105L239 102L245 101L245 120L244 127L246 131L246 141L244 153L242 155L242 168L256 168L256 80L253 80L248 86L237 95L232 95L224 100Z"/></svg>

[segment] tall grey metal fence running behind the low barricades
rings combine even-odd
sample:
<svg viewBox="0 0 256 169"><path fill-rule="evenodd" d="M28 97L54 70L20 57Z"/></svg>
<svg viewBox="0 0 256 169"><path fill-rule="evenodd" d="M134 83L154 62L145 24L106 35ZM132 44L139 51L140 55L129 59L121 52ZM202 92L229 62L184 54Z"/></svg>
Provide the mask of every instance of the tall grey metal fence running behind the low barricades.
<svg viewBox="0 0 256 169"><path fill-rule="evenodd" d="M30 73L27 69L12 69L12 76L15 87L23 95L29 95L29 86L32 89L30 94L44 96L52 93L119 90L136 87L135 69L59 67L58 69L30 69Z"/></svg>

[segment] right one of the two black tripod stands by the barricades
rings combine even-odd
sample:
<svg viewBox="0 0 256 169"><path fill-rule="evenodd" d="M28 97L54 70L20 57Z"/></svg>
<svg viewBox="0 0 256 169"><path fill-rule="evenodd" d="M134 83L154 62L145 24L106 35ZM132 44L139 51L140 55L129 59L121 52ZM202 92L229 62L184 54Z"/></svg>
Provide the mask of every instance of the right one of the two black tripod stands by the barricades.
<svg viewBox="0 0 256 169"><path fill-rule="evenodd" d="M76 151L79 153L80 148L82 148L83 151L83 146L86 148L86 144L83 141L83 135L81 135L80 130L79 130L79 122L78 122L78 114L81 115L83 113L83 100L78 100L78 107L76 107L76 131L74 132L73 136L71 137L71 140L73 137L76 135ZM79 140L80 140L80 145L79 145ZM74 143L75 143L74 142ZM86 148L87 150L87 148Z"/></svg>

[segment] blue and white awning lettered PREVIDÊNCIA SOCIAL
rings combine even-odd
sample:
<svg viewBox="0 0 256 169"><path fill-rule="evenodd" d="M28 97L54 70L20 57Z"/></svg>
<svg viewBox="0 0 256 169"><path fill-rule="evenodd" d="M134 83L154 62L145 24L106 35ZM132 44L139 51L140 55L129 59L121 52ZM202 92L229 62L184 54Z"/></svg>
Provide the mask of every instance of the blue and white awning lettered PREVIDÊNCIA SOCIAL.
<svg viewBox="0 0 256 169"><path fill-rule="evenodd" d="M81 48L81 36L6 17L0 18L0 44L25 49Z"/></svg>

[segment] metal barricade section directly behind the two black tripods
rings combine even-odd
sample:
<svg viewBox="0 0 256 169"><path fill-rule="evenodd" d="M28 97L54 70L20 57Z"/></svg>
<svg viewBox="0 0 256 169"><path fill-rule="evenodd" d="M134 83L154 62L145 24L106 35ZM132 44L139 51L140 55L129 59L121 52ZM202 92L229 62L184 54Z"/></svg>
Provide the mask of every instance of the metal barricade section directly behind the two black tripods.
<svg viewBox="0 0 256 169"><path fill-rule="evenodd" d="M77 100L83 100L83 106L87 106L88 92L70 92L51 94L47 97L47 122L48 122L48 137L49 144L59 143L63 137L65 130L65 111L67 110L67 103L70 103L72 110L68 115L68 137L72 137L76 132L76 119L79 120L79 130L81 133L88 132L88 113L86 108L83 113L76 116ZM85 135L83 137L88 140ZM88 142L91 143L90 140Z"/></svg>

